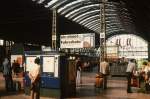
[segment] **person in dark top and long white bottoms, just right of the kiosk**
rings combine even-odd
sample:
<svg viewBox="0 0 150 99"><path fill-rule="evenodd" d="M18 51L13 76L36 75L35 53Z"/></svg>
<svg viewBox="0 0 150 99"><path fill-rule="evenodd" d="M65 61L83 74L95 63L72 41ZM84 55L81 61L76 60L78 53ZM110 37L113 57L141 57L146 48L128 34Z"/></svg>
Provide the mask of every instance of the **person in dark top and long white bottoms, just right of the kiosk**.
<svg viewBox="0 0 150 99"><path fill-rule="evenodd" d="M81 83L81 67L82 67L82 64L81 64L81 60L80 58L78 57L76 59L76 85L79 86L79 84Z"/></svg>

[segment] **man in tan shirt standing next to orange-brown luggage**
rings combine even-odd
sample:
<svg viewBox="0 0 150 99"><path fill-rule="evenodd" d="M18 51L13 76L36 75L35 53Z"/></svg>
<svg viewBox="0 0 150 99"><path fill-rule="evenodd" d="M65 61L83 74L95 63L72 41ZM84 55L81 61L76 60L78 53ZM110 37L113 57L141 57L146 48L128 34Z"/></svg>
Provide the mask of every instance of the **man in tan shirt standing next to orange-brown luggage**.
<svg viewBox="0 0 150 99"><path fill-rule="evenodd" d="M103 89L107 89L107 76L109 75L109 63L105 59L103 62L100 63L100 73L103 74Z"/></svg>

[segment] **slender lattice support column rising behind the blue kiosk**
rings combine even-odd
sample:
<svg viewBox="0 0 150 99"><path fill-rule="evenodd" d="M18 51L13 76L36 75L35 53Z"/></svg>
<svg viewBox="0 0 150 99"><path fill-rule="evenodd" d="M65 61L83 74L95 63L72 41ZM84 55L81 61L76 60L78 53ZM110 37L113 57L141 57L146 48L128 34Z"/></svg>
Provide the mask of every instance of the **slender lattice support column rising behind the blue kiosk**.
<svg viewBox="0 0 150 99"><path fill-rule="evenodd" d="M53 19L52 19L52 49L56 50L57 48L57 34L56 34L56 22L57 22L57 12L56 9L53 9Z"/></svg>

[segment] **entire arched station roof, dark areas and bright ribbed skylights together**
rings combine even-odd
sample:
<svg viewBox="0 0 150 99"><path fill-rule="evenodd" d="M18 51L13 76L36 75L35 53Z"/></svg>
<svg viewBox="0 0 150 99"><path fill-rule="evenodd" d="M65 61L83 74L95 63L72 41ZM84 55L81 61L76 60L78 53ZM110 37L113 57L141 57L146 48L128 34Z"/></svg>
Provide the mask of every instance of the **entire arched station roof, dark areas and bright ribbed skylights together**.
<svg viewBox="0 0 150 99"><path fill-rule="evenodd" d="M58 13L58 33L99 34L101 1L3 0L0 3L0 37L49 44L53 9ZM106 35L132 33L148 40L149 4L149 0L108 0L105 3Z"/></svg>

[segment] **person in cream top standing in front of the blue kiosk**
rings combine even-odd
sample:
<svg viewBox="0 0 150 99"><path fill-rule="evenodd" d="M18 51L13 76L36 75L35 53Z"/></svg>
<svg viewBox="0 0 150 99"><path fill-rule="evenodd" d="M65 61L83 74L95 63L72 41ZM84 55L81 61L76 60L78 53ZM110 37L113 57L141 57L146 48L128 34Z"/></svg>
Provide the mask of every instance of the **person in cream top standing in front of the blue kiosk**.
<svg viewBox="0 0 150 99"><path fill-rule="evenodd" d="M31 79L31 99L40 99L40 58L34 60L35 66L29 71Z"/></svg>

